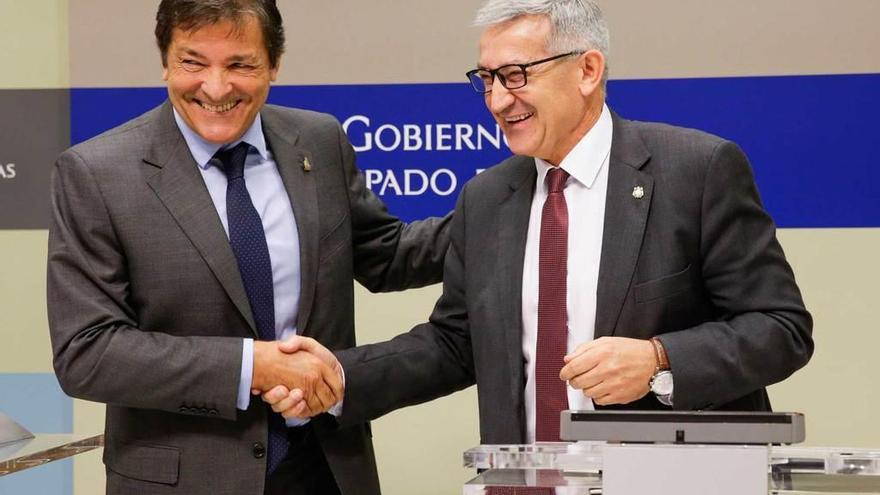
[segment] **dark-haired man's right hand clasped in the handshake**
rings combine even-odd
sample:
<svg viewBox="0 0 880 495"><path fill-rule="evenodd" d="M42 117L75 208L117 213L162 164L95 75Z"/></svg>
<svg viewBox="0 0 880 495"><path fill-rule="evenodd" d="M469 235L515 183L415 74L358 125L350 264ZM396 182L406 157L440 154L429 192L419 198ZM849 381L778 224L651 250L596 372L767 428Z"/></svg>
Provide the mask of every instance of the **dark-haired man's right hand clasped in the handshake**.
<svg viewBox="0 0 880 495"><path fill-rule="evenodd" d="M296 336L284 342L254 342L252 388L267 392L276 386L298 390L313 414L342 400L339 363L314 339Z"/></svg>

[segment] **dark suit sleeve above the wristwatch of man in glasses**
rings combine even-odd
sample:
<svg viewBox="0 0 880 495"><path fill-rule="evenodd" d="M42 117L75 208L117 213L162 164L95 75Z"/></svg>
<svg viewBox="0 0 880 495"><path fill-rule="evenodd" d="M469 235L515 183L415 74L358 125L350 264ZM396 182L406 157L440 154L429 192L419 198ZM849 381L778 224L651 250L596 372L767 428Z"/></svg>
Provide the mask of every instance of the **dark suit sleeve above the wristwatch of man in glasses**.
<svg viewBox="0 0 880 495"><path fill-rule="evenodd" d="M733 143L709 159L701 210L703 283L720 317L660 337L676 409L711 409L779 382L813 352L812 319Z"/></svg>

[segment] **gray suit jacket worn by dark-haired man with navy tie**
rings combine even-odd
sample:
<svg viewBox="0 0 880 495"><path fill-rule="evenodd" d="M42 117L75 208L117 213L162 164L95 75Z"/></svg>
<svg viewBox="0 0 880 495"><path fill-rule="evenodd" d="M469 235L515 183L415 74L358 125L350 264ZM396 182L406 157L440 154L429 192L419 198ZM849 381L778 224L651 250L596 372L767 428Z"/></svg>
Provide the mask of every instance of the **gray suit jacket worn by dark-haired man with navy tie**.
<svg viewBox="0 0 880 495"><path fill-rule="evenodd" d="M352 279L374 291L439 281L448 219L391 216L332 117L273 106L262 117L299 230L297 328L351 347ZM64 152L51 216L55 370L68 394L107 404L108 493L263 493L265 408L236 409L242 338L257 332L170 104ZM369 425L314 426L342 493L378 493Z"/></svg>

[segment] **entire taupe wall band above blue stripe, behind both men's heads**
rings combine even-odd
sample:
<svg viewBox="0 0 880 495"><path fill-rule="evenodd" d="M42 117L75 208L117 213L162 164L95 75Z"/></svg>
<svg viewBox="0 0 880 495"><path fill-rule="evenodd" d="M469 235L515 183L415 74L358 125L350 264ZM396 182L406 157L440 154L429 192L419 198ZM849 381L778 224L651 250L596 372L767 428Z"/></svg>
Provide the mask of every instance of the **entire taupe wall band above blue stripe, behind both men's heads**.
<svg viewBox="0 0 880 495"><path fill-rule="evenodd" d="M461 82L476 61L476 0L279 3L288 33L279 84ZM615 79L880 72L877 0L599 3ZM73 2L72 86L161 85L157 5Z"/></svg>

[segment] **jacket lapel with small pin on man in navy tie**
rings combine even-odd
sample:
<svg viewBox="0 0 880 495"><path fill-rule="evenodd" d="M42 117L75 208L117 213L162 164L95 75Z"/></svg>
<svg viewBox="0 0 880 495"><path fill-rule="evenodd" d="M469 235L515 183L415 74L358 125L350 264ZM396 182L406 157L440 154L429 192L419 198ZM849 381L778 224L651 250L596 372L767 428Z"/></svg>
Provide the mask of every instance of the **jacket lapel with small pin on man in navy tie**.
<svg viewBox="0 0 880 495"><path fill-rule="evenodd" d="M310 330L307 324L314 305L315 285L318 279L320 212L315 185L316 172L306 171L303 162L308 158L313 170L320 168L321 164L314 163L311 153L297 146L299 135L296 129L290 129L289 125L285 126L275 111L264 107L262 118L263 134L278 165L281 181L287 190L296 217L300 250L300 296L296 328L298 333L307 335Z"/></svg>

